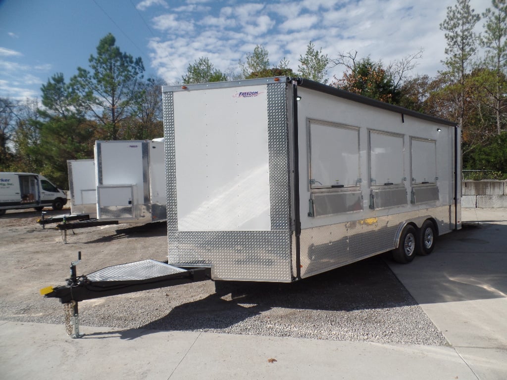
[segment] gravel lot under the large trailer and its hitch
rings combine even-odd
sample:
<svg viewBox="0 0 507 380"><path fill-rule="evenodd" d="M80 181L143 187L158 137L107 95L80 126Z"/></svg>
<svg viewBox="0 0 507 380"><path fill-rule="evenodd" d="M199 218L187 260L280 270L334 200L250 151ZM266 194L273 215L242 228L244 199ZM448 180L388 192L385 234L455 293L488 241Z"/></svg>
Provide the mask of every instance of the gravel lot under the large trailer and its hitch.
<svg viewBox="0 0 507 380"><path fill-rule="evenodd" d="M68 212L68 210L67 210ZM48 211L47 216L61 214ZM108 265L166 258L165 225L112 225L60 232L36 223L39 213L0 217L0 319L62 324L63 307L39 289L63 285L82 251L78 275ZM142 327L248 335L446 345L405 287L388 255L293 284L203 281L80 302L82 326ZM216 285L216 289L215 289ZM86 333L86 327L82 332Z"/></svg>

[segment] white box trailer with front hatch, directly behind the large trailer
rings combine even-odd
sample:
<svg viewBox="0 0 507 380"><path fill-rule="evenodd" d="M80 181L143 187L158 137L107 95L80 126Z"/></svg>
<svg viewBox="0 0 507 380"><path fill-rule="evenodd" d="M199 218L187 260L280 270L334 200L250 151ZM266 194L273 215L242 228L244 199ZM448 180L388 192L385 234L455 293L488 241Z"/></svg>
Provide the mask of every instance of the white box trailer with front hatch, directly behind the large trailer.
<svg viewBox="0 0 507 380"><path fill-rule="evenodd" d="M95 142L98 219L166 219L163 141Z"/></svg>

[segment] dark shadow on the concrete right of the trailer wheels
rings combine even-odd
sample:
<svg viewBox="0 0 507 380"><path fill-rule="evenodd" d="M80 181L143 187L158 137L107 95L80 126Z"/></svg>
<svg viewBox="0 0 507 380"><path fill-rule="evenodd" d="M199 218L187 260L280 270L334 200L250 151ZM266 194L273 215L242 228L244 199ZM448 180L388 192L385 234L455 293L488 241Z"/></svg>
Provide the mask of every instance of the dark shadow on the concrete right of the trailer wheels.
<svg viewBox="0 0 507 380"><path fill-rule="evenodd" d="M507 225L464 226L440 237L431 255L390 266L419 303L507 297Z"/></svg>

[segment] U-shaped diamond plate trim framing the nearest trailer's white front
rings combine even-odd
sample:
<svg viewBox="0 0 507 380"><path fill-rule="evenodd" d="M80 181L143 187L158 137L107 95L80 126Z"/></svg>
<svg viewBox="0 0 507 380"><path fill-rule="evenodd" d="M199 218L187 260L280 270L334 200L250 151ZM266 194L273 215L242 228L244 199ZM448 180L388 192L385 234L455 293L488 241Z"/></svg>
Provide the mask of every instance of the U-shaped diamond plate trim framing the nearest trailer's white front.
<svg viewBox="0 0 507 380"><path fill-rule="evenodd" d="M271 231L178 231L174 95L163 93L168 260L207 264L213 279L292 280L286 84L267 86Z"/></svg>

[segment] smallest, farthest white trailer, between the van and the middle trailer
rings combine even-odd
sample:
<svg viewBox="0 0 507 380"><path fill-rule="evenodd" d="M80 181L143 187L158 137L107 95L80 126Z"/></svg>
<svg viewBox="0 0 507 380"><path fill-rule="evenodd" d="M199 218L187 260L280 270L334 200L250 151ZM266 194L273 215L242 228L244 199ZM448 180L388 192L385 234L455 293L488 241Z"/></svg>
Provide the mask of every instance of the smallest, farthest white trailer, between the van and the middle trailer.
<svg viewBox="0 0 507 380"><path fill-rule="evenodd" d="M67 160L70 190L70 212L72 214L97 213L97 189L95 185L94 160Z"/></svg>

